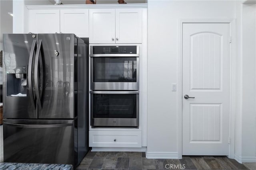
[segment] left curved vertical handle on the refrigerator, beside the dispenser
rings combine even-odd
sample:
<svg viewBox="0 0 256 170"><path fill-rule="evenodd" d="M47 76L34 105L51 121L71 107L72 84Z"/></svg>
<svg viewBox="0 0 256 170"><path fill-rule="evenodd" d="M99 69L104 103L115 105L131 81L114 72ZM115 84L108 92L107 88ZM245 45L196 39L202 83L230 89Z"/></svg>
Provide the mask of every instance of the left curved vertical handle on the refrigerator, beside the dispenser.
<svg viewBox="0 0 256 170"><path fill-rule="evenodd" d="M33 40L32 47L30 50L30 55L29 55L29 61L28 61L28 90L29 90L30 100L34 109L36 109L36 104L35 104L33 90L32 90L32 63L33 63L33 56L34 56L35 49L36 49L36 40Z"/></svg>

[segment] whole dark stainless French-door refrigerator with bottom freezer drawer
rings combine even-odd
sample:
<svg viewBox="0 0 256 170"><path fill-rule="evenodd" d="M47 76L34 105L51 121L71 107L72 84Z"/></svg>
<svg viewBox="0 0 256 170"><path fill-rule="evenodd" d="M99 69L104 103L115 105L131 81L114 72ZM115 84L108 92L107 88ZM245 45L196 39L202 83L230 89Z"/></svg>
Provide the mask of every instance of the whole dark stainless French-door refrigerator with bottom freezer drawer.
<svg viewBox="0 0 256 170"><path fill-rule="evenodd" d="M80 163L88 151L88 44L3 35L4 162Z"/></svg>

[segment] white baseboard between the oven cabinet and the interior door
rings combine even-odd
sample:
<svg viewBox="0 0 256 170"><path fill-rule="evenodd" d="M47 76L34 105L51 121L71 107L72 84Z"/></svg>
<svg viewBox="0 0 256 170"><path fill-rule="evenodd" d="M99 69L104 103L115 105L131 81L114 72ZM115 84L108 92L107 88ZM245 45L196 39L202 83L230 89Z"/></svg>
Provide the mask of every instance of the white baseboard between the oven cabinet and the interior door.
<svg viewBox="0 0 256 170"><path fill-rule="evenodd" d="M178 152L148 152L146 151L146 158L148 159L178 159Z"/></svg>

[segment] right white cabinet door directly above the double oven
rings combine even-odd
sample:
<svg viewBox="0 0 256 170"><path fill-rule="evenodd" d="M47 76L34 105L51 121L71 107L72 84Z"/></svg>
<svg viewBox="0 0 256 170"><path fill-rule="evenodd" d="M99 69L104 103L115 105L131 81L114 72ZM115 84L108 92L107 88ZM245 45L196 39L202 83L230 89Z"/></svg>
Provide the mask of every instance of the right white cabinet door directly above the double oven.
<svg viewBox="0 0 256 170"><path fill-rule="evenodd" d="M116 9L116 43L142 43L141 9Z"/></svg>

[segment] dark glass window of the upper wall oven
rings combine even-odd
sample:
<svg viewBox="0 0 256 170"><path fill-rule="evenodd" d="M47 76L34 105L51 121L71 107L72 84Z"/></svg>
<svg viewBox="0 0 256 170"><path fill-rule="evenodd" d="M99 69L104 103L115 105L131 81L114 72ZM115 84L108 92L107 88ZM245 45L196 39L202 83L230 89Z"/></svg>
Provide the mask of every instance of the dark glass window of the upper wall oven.
<svg viewBox="0 0 256 170"><path fill-rule="evenodd" d="M136 57L94 57L94 82L136 82Z"/></svg>

